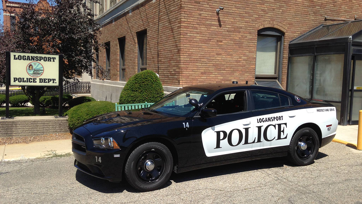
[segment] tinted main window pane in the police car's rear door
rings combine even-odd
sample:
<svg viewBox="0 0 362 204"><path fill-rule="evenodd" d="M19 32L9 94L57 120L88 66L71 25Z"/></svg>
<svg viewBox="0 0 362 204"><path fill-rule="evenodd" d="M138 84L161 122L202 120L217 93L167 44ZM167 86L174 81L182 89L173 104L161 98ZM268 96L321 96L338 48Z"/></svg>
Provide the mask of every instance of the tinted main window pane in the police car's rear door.
<svg viewBox="0 0 362 204"><path fill-rule="evenodd" d="M255 110L268 109L279 107L279 94L265 92L265 91L252 91ZM288 102L289 103L289 102Z"/></svg>

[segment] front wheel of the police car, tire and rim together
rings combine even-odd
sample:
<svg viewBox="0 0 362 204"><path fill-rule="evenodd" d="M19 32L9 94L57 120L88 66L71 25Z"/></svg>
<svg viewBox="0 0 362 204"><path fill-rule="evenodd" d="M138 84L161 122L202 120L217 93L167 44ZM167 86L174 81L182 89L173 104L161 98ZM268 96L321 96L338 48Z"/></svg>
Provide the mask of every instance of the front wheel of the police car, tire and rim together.
<svg viewBox="0 0 362 204"><path fill-rule="evenodd" d="M153 191L169 180L172 167L171 151L161 143L149 142L132 151L126 162L125 175L135 189Z"/></svg>

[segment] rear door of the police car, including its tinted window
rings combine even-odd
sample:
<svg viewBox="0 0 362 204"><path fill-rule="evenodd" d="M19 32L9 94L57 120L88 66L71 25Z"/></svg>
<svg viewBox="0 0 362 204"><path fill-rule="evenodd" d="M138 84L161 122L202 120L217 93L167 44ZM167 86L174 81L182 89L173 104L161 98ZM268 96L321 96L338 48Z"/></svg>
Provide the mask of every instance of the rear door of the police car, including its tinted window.
<svg viewBox="0 0 362 204"><path fill-rule="evenodd" d="M253 107L253 155L287 151L298 118L289 96L251 90Z"/></svg>

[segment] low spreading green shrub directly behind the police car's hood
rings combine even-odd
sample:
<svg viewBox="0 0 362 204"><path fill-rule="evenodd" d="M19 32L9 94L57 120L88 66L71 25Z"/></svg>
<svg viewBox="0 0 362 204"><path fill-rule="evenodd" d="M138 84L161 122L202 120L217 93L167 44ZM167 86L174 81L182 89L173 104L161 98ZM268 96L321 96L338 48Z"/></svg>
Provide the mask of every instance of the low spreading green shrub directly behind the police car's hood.
<svg viewBox="0 0 362 204"><path fill-rule="evenodd" d="M68 115L68 125L73 129L89 118L113 111L114 103L112 102L91 101L72 107L65 115Z"/></svg>

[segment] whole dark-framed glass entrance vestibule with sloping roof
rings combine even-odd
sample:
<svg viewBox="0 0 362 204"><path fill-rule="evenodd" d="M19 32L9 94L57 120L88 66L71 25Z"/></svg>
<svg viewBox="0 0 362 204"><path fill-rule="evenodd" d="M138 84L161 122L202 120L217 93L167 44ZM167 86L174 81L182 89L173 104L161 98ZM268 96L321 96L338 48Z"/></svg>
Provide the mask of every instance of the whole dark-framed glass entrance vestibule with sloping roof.
<svg viewBox="0 0 362 204"><path fill-rule="evenodd" d="M289 43L287 90L332 103L341 125L357 124L362 109L361 28L362 20L319 25Z"/></svg>

